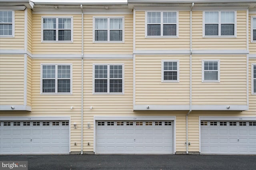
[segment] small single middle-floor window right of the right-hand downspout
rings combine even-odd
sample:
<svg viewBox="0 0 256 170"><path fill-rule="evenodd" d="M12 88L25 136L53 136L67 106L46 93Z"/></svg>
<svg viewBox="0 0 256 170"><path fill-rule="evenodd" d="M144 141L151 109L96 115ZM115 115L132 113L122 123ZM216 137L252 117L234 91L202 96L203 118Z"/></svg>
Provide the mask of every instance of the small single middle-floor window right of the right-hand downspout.
<svg viewBox="0 0 256 170"><path fill-rule="evenodd" d="M202 61L202 82L220 82L220 61Z"/></svg>

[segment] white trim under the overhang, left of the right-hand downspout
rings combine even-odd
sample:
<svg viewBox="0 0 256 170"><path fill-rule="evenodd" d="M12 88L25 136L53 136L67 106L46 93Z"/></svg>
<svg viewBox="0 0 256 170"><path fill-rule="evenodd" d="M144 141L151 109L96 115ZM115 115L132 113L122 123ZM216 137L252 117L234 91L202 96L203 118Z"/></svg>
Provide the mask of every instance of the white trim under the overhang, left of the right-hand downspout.
<svg viewBox="0 0 256 170"><path fill-rule="evenodd" d="M134 110L189 110L189 105L134 105Z"/></svg>

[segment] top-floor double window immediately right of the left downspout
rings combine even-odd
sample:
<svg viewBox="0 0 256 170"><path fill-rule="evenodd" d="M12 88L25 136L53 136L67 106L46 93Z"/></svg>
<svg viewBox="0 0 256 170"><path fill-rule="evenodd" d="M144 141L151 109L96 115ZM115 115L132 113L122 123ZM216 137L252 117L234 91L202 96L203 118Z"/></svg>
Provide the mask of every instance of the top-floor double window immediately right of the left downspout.
<svg viewBox="0 0 256 170"><path fill-rule="evenodd" d="M124 42L124 17L94 17L94 42Z"/></svg>

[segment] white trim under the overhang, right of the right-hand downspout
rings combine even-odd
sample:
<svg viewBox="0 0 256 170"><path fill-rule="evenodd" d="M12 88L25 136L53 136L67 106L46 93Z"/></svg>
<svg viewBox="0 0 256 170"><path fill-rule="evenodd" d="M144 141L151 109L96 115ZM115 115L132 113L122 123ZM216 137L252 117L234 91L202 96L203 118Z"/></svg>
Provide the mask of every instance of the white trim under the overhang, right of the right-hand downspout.
<svg viewBox="0 0 256 170"><path fill-rule="evenodd" d="M192 105L192 110L248 110L247 105Z"/></svg>

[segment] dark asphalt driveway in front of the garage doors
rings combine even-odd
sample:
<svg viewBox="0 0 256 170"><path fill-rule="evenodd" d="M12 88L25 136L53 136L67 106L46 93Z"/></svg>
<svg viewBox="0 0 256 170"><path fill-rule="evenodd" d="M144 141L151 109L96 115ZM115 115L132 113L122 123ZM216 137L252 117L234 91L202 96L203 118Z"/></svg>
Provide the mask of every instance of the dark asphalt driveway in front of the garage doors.
<svg viewBox="0 0 256 170"><path fill-rule="evenodd" d="M255 170L250 155L0 155L29 170ZM1 168L0 168L1 169Z"/></svg>

